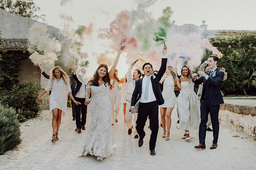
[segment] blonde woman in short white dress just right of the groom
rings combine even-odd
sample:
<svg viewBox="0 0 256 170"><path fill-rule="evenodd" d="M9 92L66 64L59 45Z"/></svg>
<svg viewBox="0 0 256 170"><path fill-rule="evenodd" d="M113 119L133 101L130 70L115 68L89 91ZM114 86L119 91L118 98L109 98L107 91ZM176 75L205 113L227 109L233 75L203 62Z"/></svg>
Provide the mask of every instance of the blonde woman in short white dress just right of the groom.
<svg viewBox="0 0 256 170"><path fill-rule="evenodd" d="M164 90L162 92L164 104L160 105L161 122L164 129L162 137L165 137L165 140L168 141L170 139L170 128L172 124L172 109L175 106L176 100L174 86L177 85L181 89L180 80L177 77L176 70L172 66L167 66L165 76L160 80L160 83L162 82L164 82ZM167 132L165 128L167 128Z"/></svg>

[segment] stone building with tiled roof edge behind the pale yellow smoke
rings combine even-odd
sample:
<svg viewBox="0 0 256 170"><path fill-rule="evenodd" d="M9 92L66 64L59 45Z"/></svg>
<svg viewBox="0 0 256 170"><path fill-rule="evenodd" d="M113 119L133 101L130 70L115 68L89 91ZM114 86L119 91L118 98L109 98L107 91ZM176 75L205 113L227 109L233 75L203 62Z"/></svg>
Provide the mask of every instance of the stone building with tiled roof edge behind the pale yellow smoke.
<svg viewBox="0 0 256 170"><path fill-rule="evenodd" d="M11 12L0 10L0 31L2 33L1 37L5 39L4 49L8 51L17 51L28 53L28 33L29 28L35 23L43 24L37 22L30 18L21 17L19 15L13 14ZM55 37L61 45L61 55L58 56L58 60L55 63L45 63L42 64L44 71L50 74L50 70L54 65L59 65L64 71L70 71L70 65L75 63L75 58L69 53L69 46L71 40L61 33L59 28L54 26L47 26L47 33L50 36ZM29 57L28 53L28 57ZM41 70L38 66L35 66L29 58L20 61L20 72L19 80L20 82L28 81L29 76L36 72L35 77L40 80L42 88L48 84L48 79L44 78L41 74ZM43 100L42 109L49 109L49 96L45 95Z"/></svg>

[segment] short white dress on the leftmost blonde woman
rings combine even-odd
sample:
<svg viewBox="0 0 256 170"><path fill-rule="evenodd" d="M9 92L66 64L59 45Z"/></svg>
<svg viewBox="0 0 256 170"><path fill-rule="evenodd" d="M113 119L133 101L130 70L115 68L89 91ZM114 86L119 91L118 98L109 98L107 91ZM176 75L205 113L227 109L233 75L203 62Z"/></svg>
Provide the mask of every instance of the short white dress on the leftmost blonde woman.
<svg viewBox="0 0 256 170"><path fill-rule="evenodd" d="M61 117L66 117L67 113L67 103L68 103L68 93L71 92L70 85L66 85L62 78L60 78L59 83L57 79L54 78L53 84L51 79L48 82L48 85L45 87L45 90L49 92L52 90L50 96L50 113L49 116L52 118L52 110L58 108L62 110Z"/></svg>

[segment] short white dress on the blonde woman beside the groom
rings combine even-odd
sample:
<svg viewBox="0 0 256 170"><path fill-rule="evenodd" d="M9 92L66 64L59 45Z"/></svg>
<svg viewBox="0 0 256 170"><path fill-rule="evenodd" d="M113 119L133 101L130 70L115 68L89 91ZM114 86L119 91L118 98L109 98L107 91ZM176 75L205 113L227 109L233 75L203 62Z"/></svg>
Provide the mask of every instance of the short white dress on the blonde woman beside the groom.
<svg viewBox="0 0 256 170"><path fill-rule="evenodd" d="M164 104L160 105L162 108L171 107L174 108L176 96L174 93L174 82L172 75L169 75L164 79L164 90L162 92L164 98Z"/></svg>

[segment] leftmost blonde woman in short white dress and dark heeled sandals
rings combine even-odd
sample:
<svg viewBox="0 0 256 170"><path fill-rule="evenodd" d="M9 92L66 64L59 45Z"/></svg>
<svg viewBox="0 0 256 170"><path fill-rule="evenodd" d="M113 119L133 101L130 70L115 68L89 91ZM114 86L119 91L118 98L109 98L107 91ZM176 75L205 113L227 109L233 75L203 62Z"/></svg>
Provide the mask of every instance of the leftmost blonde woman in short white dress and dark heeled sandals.
<svg viewBox="0 0 256 170"><path fill-rule="evenodd" d="M77 102L73 98L69 85L69 78L65 71L63 71L59 66L55 66L52 69L48 85L45 87L44 91L38 96L36 102L38 102L40 98L50 90L52 90L52 93L50 97L49 116L52 118L52 143L55 143L57 140L59 140L58 133L61 117L66 117L68 95L73 100L73 102L76 103L76 105L81 103Z"/></svg>

